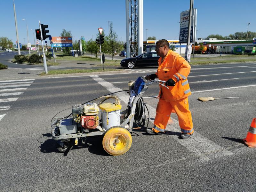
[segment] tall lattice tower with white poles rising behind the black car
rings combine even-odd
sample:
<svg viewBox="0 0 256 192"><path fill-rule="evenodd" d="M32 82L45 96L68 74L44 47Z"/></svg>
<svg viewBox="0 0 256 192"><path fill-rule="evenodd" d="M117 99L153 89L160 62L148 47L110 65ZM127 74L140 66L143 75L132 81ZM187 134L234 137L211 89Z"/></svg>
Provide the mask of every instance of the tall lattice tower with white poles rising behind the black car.
<svg viewBox="0 0 256 192"><path fill-rule="evenodd" d="M126 0L126 57L143 53L143 0Z"/></svg>

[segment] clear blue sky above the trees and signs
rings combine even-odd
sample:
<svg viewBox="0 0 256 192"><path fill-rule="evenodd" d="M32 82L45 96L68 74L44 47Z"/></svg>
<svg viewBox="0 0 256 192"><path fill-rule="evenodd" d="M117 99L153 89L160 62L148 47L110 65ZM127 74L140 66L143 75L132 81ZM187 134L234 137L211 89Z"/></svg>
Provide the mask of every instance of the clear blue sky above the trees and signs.
<svg viewBox="0 0 256 192"><path fill-rule="evenodd" d="M189 0L144 0L144 40L148 36L157 39L179 39L180 12L189 9ZM7 36L15 43L16 31L13 0L0 0L0 36ZM108 21L119 40L126 39L125 0L15 0L20 43L27 43L26 19L29 41L34 44L30 29L39 28L38 20L49 25L49 34L60 36L63 28L70 30L73 39L95 39L98 28L108 34ZM256 0L194 0L197 9L197 37L210 34L228 36L237 31L256 32Z"/></svg>

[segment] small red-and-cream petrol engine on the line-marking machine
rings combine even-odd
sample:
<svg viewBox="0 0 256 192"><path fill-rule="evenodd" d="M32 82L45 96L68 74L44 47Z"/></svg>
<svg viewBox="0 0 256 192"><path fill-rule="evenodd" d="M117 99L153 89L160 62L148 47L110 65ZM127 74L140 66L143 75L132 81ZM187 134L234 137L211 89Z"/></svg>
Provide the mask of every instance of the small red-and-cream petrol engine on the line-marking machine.
<svg viewBox="0 0 256 192"><path fill-rule="evenodd" d="M80 123L84 129L95 129L99 125L99 107L96 103L86 103L72 106L72 116L76 123Z"/></svg>

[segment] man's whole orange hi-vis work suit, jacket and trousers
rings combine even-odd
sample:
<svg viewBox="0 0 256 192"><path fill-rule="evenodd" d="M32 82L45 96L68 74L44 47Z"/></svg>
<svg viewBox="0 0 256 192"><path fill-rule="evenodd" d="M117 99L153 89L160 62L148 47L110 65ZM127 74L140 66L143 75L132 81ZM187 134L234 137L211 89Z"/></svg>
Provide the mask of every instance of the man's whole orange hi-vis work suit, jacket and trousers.
<svg viewBox="0 0 256 192"><path fill-rule="evenodd" d="M178 116L182 133L192 134L194 132L191 112L188 109L188 96L191 91L187 76L190 65L178 53L169 50L164 59L158 60L156 76L159 80L174 80L174 86L160 86L159 101L156 108L154 121L154 132L164 132L172 109Z"/></svg>

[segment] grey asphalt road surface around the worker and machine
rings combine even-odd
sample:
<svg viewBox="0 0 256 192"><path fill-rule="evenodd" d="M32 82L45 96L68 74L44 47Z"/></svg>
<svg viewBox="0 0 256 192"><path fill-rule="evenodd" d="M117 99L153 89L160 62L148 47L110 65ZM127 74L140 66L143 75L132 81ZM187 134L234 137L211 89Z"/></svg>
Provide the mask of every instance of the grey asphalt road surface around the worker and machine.
<svg viewBox="0 0 256 192"><path fill-rule="evenodd" d="M192 66L189 105L195 133L188 140L179 139L172 113L174 123L162 136L132 132L132 147L122 156L109 156L101 139L92 137L83 146L80 140L67 156L57 151L52 116L127 90L129 80L155 70L0 81L0 191L256 191L256 149L240 141L256 117L256 63ZM143 95L152 120L158 100L150 96L158 90L151 84ZM125 109L127 94L117 96ZM239 98L201 102L198 97Z"/></svg>

